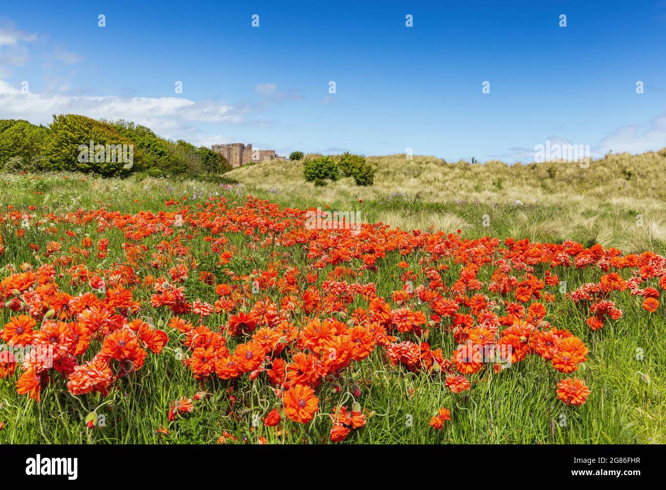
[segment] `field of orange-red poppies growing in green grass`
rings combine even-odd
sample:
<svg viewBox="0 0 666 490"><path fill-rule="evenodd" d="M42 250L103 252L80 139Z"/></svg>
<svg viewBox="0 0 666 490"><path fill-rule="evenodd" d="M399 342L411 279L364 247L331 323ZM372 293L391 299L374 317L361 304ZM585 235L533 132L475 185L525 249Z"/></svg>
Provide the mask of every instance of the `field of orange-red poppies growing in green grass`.
<svg viewBox="0 0 666 490"><path fill-rule="evenodd" d="M1 443L665 441L653 251L3 181Z"/></svg>

